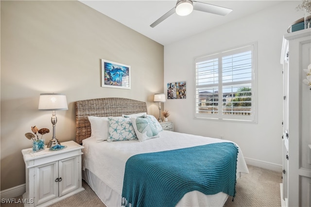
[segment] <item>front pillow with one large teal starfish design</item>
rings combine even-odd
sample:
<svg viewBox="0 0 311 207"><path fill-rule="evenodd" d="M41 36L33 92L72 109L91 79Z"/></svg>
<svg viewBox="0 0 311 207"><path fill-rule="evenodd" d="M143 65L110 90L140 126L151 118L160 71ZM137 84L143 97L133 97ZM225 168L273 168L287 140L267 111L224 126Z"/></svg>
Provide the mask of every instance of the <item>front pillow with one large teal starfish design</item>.
<svg viewBox="0 0 311 207"><path fill-rule="evenodd" d="M131 122L139 142L159 137L159 130L151 117L131 118Z"/></svg>

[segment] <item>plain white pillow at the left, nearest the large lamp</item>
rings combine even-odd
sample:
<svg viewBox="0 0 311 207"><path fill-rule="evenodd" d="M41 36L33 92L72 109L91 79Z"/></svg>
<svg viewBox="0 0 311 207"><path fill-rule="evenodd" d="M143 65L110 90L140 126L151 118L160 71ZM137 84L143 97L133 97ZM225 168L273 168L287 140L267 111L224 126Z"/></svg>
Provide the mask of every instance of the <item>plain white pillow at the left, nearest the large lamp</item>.
<svg viewBox="0 0 311 207"><path fill-rule="evenodd" d="M103 142L109 137L108 117L89 116L91 123L91 137L95 137L97 142Z"/></svg>

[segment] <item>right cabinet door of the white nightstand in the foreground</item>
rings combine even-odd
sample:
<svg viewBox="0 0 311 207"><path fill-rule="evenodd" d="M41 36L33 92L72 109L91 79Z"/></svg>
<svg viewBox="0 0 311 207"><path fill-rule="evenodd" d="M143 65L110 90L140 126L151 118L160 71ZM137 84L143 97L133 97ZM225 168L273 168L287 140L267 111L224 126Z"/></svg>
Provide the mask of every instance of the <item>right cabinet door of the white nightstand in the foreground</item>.
<svg viewBox="0 0 311 207"><path fill-rule="evenodd" d="M59 196L79 188L78 157L59 161Z"/></svg>

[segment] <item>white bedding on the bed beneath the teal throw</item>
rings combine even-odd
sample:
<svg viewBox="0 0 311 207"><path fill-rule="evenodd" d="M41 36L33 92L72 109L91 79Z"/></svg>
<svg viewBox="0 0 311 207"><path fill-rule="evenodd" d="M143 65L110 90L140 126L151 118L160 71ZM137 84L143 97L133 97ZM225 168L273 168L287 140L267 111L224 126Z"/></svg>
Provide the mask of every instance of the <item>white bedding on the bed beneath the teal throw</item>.
<svg viewBox="0 0 311 207"><path fill-rule="evenodd" d="M109 199L108 202L101 198L105 205L109 207L121 206L124 168L128 158L140 153L158 152L217 142L229 141L172 131L161 131L160 137L144 142L132 140L98 143L95 138L87 138L83 140L85 148L82 164L84 170L90 171L103 181L108 188L118 194L115 196L117 198L115 199L116 201ZM247 173L248 169L242 150L239 148L237 178ZM97 194L99 195L99 193ZM192 191L187 193L177 206L223 206L227 197L228 195L223 192L215 195L205 195L199 191Z"/></svg>

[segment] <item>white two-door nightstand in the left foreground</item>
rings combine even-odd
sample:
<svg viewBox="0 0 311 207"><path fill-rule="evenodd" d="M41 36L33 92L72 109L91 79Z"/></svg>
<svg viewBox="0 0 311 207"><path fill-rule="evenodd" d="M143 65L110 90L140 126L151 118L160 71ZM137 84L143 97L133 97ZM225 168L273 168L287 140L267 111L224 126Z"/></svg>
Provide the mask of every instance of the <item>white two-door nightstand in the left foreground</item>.
<svg viewBox="0 0 311 207"><path fill-rule="evenodd" d="M80 191L84 191L81 179L81 149L84 146L73 141L61 143L67 147L58 151L50 148L32 152L23 149L26 165L25 206L50 206Z"/></svg>

